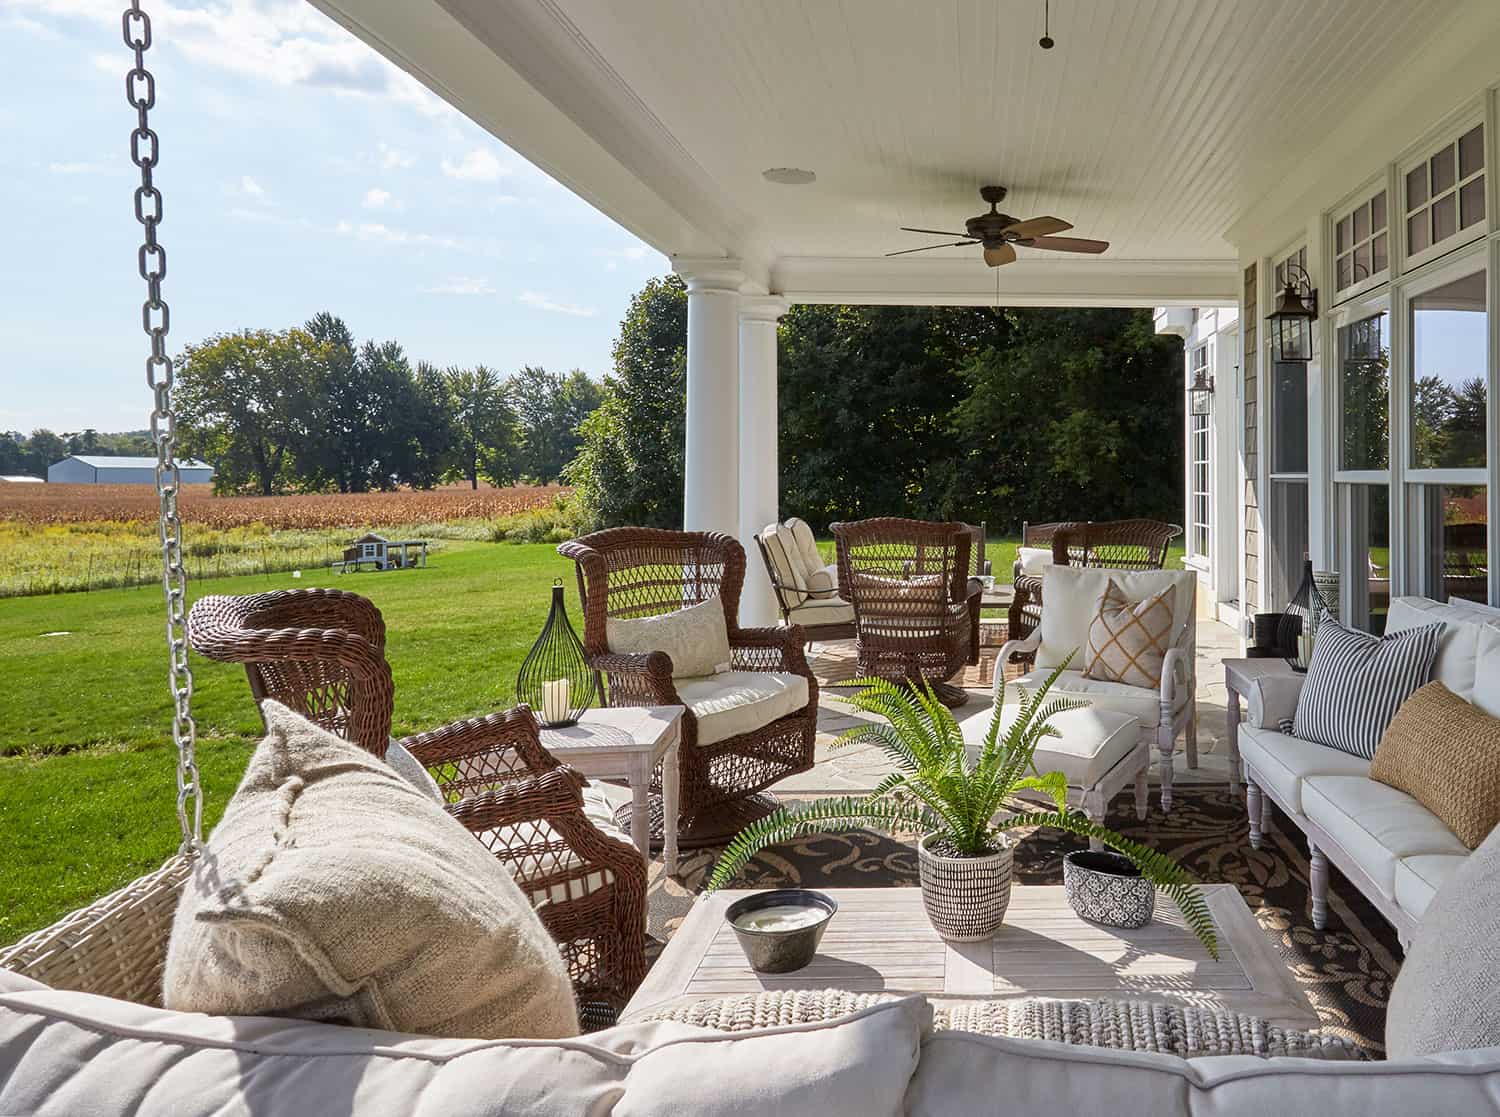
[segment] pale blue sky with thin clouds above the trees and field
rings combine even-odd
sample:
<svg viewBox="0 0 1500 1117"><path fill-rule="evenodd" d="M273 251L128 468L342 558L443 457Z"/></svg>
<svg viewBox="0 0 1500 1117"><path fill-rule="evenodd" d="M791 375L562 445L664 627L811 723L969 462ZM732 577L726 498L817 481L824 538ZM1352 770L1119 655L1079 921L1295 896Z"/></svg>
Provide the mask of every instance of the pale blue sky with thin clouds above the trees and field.
<svg viewBox="0 0 1500 1117"><path fill-rule="evenodd" d="M0 429L150 411L118 0L0 0ZM172 352L318 310L416 360L602 375L666 259L304 3L150 3Z"/></svg>

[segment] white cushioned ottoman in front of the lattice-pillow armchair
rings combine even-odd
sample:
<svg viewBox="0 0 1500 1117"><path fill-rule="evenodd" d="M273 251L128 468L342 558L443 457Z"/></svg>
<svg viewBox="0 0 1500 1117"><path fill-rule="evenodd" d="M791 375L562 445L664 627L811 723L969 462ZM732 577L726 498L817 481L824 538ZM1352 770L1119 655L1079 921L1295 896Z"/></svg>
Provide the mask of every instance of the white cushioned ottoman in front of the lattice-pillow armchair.
<svg viewBox="0 0 1500 1117"><path fill-rule="evenodd" d="M1020 706L1002 709L1000 732L1010 729ZM992 714L975 714L963 723L963 739L970 756L984 745ZM1062 772L1068 778L1068 799L1094 822L1102 823L1113 799L1125 784L1136 781L1136 817L1146 817L1146 772L1150 768L1150 739L1134 714L1113 709L1070 709L1052 720L1059 736L1036 747L1038 772Z"/></svg>

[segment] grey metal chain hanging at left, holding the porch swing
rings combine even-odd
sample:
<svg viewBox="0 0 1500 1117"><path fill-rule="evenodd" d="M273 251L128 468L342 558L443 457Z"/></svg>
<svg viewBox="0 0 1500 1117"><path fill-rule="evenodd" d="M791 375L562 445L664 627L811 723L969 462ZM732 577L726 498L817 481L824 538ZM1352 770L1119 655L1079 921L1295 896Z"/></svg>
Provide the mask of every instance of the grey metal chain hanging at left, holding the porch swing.
<svg viewBox="0 0 1500 1117"><path fill-rule="evenodd" d="M186 852L202 841L202 787L198 783L198 727L192 718L192 669L188 666L188 570L183 567L183 529L177 516L182 474L172 456L177 418L172 414L172 360L166 355L171 315L162 300L166 249L156 241L156 226L162 220L162 192L152 180L159 154L148 117L150 109L156 106L156 78L146 69L146 51L152 46L152 19L141 10L140 0L130 0L122 27L124 45L135 51L135 66L124 76L124 99L136 112L136 126L130 132L130 160L141 168L141 184L135 190L135 219L146 229L136 262L141 279L146 280L141 327L152 339L152 355L146 358L146 382L154 393L152 441L156 444L158 537L162 544L162 594L166 598L172 742L177 745L177 823L182 826L182 850Z"/></svg>

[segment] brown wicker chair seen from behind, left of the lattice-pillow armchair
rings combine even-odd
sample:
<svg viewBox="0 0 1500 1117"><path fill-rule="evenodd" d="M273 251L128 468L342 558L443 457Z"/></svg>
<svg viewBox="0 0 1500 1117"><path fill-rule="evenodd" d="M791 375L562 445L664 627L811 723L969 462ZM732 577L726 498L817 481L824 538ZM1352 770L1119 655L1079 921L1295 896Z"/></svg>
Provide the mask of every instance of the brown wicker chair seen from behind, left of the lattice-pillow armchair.
<svg viewBox="0 0 1500 1117"><path fill-rule="evenodd" d="M948 684L978 663L981 586L969 577L972 529L880 517L832 525L838 595L854 606L862 675L926 682L948 706Z"/></svg>

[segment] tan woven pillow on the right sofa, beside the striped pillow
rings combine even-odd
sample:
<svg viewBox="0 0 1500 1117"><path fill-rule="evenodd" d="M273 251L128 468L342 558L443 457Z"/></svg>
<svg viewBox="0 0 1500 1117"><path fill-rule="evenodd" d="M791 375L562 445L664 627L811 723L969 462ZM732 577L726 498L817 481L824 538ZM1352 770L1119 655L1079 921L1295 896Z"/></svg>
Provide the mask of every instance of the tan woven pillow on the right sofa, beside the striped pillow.
<svg viewBox="0 0 1500 1117"><path fill-rule="evenodd" d="M1500 718L1430 682L1390 718L1370 777L1410 795L1476 849L1500 823Z"/></svg>

